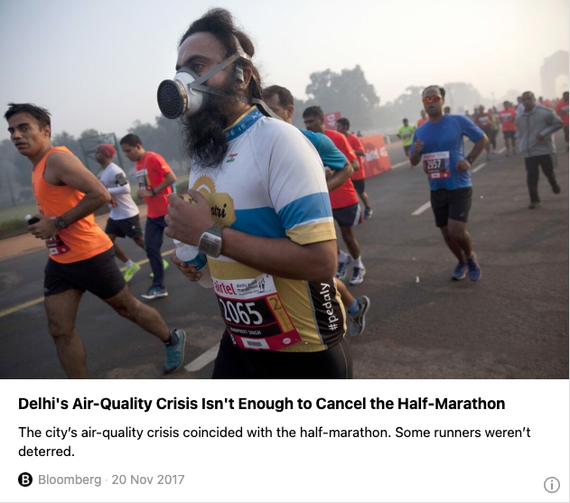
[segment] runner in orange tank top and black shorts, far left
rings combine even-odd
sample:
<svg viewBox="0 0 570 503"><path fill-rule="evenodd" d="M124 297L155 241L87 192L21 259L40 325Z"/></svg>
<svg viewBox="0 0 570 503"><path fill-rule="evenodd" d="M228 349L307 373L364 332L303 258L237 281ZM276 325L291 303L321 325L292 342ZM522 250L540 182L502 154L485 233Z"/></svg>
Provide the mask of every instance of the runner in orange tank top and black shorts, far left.
<svg viewBox="0 0 570 503"><path fill-rule="evenodd" d="M45 240L50 253L43 283L44 305L68 377L88 377L85 348L75 330L85 291L164 342L164 373L180 368L186 334L169 331L156 310L133 297L115 262L113 243L95 223L93 211L110 200L105 187L70 150L51 145L47 110L11 103L5 119L18 152L33 164L33 193L40 213L34 215L28 230Z"/></svg>

